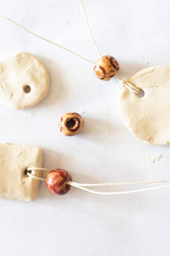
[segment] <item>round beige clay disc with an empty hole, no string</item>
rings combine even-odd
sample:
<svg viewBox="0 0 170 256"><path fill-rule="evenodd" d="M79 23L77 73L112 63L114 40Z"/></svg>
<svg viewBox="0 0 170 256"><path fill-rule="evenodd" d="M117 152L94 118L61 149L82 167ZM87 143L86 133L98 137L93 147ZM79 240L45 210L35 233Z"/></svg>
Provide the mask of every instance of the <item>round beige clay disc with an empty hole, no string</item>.
<svg viewBox="0 0 170 256"><path fill-rule="evenodd" d="M0 102L11 109L30 108L48 92L49 77L44 64L29 52L0 60Z"/></svg>

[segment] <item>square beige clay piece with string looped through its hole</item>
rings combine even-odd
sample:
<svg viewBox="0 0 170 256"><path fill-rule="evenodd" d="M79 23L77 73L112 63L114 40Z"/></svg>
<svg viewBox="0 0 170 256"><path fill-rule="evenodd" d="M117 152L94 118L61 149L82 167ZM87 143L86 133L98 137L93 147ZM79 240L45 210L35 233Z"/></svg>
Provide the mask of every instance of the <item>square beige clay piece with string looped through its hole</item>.
<svg viewBox="0 0 170 256"><path fill-rule="evenodd" d="M28 167L42 167L41 147L0 144L0 197L33 201L40 180L25 174ZM41 171L32 174L41 177Z"/></svg>

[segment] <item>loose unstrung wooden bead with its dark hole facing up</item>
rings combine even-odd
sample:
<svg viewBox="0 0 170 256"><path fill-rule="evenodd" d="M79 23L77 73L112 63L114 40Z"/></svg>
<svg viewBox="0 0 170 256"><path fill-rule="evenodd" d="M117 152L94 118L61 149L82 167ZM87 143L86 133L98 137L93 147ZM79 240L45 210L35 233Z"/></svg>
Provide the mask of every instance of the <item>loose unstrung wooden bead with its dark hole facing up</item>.
<svg viewBox="0 0 170 256"><path fill-rule="evenodd" d="M70 112L63 115L59 121L60 132L67 136L79 133L83 126L83 118L81 115L75 112Z"/></svg>

